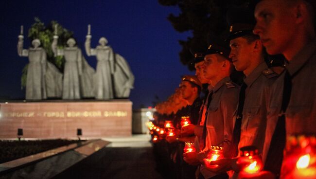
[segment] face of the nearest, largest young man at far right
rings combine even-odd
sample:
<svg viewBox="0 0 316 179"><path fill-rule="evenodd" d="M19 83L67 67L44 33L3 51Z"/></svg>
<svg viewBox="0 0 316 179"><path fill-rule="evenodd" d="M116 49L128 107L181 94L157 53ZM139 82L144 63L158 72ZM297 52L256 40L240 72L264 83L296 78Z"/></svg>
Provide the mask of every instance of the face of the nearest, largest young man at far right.
<svg viewBox="0 0 316 179"><path fill-rule="evenodd" d="M260 36L268 54L282 54L293 45L296 36L296 13L287 0L261 0L255 9L254 34Z"/></svg>

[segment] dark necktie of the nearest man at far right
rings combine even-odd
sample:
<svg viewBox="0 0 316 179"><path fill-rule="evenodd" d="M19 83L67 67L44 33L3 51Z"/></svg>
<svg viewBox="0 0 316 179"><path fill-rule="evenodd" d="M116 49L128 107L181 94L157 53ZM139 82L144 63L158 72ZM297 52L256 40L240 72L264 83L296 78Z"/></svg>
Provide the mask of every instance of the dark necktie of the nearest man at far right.
<svg viewBox="0 0 316 179"><path fill-rule="evenodd" d="M281 172L281 165L283 160L283 149L286 141L285 131L285 111L290 102L292 91L291 75L286 70L284 76L282 106L278 117L278 122L274 130L270 148L267 154L267 158L264 164L264 170L277 174L279 177Z"/></svg>

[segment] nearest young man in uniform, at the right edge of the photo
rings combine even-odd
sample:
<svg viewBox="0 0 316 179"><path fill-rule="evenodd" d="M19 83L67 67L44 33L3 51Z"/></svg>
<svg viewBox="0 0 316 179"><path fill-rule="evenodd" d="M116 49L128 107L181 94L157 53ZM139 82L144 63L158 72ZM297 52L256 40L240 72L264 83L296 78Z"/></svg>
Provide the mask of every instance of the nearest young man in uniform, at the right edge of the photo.
<svg viewBox="0 0 316 179"><path fill-rule="evenodd" d="M268 54L286 58L285 70L273 85L263 149L264 170L281 178L288 172L281 172L286 138L316 134L315 4L261 0L255 9L254 33Z"/></svg>

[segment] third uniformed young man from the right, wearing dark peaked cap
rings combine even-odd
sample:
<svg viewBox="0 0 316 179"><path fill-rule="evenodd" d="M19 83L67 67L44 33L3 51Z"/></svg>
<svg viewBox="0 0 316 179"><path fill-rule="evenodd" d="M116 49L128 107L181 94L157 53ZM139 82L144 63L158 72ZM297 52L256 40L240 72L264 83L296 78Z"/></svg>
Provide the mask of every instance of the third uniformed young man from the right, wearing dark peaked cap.
<svg viewBox="0 0 316 179"><path fill-rule="evenodd" d="M204 58L204 76L210 80L211 90L204 107L205 120L203 123L203 135L199 141L200 153L196 159L192 155L184 154L184 160L200 165L199 179L228 179L224 173L213 173L206 169L203 159L212 146L229 148L233 128L232 115L237 105L238 86L233 84L229 78L232 64L228 60L228 48L219 45L220 42L211 44Z"/></svg>

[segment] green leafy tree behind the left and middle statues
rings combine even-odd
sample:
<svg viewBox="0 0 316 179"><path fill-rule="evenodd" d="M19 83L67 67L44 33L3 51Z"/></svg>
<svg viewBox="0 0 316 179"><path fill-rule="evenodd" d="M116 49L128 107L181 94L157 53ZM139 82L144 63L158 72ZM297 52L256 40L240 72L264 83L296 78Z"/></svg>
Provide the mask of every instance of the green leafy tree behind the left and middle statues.
<svg viewBox="0 0 316 179"><path fill-rule="evenodd" d="M41 42L41 46L45 49L47 54L47 60L53 63L60 72L64 71L65 58L64 56L56 56L54 57L52 51L52 42L53 42L53 33L55 24L57 24L57 34L58 38L58 48L63 48L66 46L66 42L70 37L73 37L73 33L65 28L57 21L52 20L48 26L39 19L35 18L35 23L31 26L28 31L28 38L32 42L32 40L38 38ZM32 46L32 44L30 44ZM27 66L26 65L22 70L21 76L21 87L25 87L26 85L26 75L27 75Z"/></svg>

